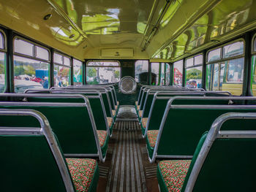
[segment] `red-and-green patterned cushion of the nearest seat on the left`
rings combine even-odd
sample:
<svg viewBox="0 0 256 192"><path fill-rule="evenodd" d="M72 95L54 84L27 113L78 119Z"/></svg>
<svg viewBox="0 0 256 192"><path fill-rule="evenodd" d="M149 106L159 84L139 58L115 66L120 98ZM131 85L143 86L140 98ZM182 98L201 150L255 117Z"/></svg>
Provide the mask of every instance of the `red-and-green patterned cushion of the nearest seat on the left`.
<svg viewBox="0 0 256 192"><path fill-rule="evenodd" d="M89 191L97 161L89 158L66 158L66 161L76 191Z"/></svg>

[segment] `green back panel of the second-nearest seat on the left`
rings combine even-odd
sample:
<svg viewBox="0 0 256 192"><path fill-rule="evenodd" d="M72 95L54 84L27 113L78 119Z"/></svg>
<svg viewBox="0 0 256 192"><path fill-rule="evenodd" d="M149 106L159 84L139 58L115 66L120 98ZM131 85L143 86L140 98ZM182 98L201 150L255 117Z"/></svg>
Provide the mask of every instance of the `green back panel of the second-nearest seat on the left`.
<svg viewBox="0 0 256 192"><path fill-rule="evenodd" d="M91 120L86 107L29 107L29 106L8 106L4 109L29 109L42 112L50 123L51 128L59 139L61 149L67 154L97 154L97 145L94 139L94 132ZM13 121L13 120L12 120ZM15 121L22 122L22 118L15 118ZM26 125L27 122L23 122Z"/></svg>

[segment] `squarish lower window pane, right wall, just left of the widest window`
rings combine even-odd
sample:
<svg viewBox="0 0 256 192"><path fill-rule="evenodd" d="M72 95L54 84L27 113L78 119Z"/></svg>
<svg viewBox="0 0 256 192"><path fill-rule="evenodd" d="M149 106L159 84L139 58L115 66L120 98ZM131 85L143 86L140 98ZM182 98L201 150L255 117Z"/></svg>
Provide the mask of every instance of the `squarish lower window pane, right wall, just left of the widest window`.
<svg viewBox="0 0 256 192"><path fill-rule="evenodd" d="M202 88L203 66L186 69L186 86L188 88Z"/></svg>

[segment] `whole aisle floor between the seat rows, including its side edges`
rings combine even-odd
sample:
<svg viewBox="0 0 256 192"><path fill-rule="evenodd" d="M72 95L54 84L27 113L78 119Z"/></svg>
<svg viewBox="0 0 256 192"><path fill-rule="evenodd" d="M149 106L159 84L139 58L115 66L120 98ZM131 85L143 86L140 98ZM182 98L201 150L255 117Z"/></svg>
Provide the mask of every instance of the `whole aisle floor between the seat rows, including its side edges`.
<svg viewBox="0 0 256 192"><path fill-rule="evenodd" d="M158 191L157 166L148 162L138 122L116 123L107 159L99 164L99 172L102 177L99 182L105 177L105 190L102 186L98 191Z"/></svg>

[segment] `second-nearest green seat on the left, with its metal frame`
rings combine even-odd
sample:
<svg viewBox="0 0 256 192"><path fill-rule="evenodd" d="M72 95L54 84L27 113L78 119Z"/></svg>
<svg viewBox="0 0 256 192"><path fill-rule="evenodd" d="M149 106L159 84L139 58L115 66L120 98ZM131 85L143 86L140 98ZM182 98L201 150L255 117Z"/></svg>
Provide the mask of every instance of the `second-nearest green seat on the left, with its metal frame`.
<svg viewBox="0 0 256 192"><path fill-rule="evenodd" d="M100 146L94 115L86 96L75 94L25 94L24 96L42 98L48 102L0 102L0 108L42 112L48 118L67 157L98 157L100 161L105 161L109 137L105 134L107 136L105 143ZM77 98L73 98L75 96ZM53 100L49 102L51 98ZM69 102L60 101L61 99L58 98L67 99ZM80 99L83 99L83 103L78 102Z"/></svg>

